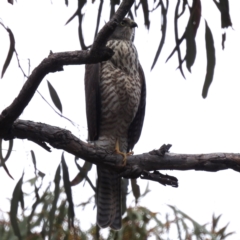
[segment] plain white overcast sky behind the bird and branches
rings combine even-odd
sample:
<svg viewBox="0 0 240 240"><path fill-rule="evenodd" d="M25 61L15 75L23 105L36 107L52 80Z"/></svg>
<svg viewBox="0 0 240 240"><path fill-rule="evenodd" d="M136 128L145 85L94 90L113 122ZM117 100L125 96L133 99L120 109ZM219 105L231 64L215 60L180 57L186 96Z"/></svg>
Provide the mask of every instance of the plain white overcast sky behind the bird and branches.
<svg viewBox="0 0 240 240"><path fill-rule="evenodd" d="M84 35L86 44L92 43L95 32L95 17L97 4L85 7ZM149 1L150 2L150 1ZM152 1L151 1L152 2ZM186 72L184 80L176 71L177 57L174 56L167 64L165 60L174 47L173 20L175 1L170 2L167 39L163 52L153 71L150 67L161 36L159 11L150 15L150 31L143 26L143 16L138 12L136 19L139 28L136 30L135 45L146 75L147 81L147 110L144 128L139 143L135 146L135 153L144 153L159 148L163 143L171 143L173 153L212 153L212 152L240 152L240 79L239 79L239 42L240 21L238 1L230 1L230 12L233 28L227 31L226 49L221 50L220 14L213 1L202 1L202 19L197 34L197 58L192 74ZM16 40L21 64L27 72L28 61L31 60L33 70L50 50L63 52L79 49L77 20L64 26L67 19L76 10L77 1L70 1L67 8L64 1L31 1L18 0L14 6L7 1L0 1L0 18L11 28ZM205 54L205 24L207 19L215 39L216 69L214 81L207 99L202 99L201 91L206 71ZM104 8L101 26L108 20L108 4ZM0 68L7 55L8 34L0 28ZM60 118L36 93L27 106L21 119L48 123L69 129L81 139L86 139L86 118L84 103L84 66L64 67L63 72L49 74L41 83L39 91L51 103L46 80L49 80L57 90L63 105L63 115L77 123L72 126ZM24 83L21 71L17 67L15 57L3 79L0 80L0 110L7 107L20 91ZM53 150L48 153L31 142L15 140L14 152L7 162L7 166L14 177L14 181L0 169L0 208L8 211L8 201L13 187L20 178L23 169L25 180L31 176L32 163L30 150L34 150L39 170L47 174L46 181L52 181L62 151ZM77 170L74 167L74 157L65 155L69 165L71 178ZM165 173L165 172L163 172ZM229 231L236 234L229 239L240 239L240 176L232 170L218 173L197 171L168 171L179 180L179 188L163 187L150 182L151 192L140 201L141 205L153 211L165 213L166 204L177 206L189 214L199 223L211 220L212 213L223 214L221 226L230 222ZM95 181L96 173L90 176ZM4 184L3 184L4 183ZM147 182L138 181L142 191ZM93 194L85 184L73 188L74 202L88 199ZM3 194L4 193L4 194ZM129 197L129 204L133 205L133 198ZM84 228L95 221L95 210L92 206L84 212L78 211L78 218ZM91 216L91 217L89 217Z"/></svg>

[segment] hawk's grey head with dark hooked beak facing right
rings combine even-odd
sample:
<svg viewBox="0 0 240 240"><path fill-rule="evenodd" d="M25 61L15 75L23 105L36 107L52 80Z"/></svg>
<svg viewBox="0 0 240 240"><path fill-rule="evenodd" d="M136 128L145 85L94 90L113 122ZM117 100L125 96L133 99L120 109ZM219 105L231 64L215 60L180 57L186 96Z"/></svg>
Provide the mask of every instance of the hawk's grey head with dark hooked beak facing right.
<svg viewBox="0 0 240 240"><path fill-rule="evenodd" d="M116 27L110 39L133 41L137 24L130 18L124 18Z"/></svg>

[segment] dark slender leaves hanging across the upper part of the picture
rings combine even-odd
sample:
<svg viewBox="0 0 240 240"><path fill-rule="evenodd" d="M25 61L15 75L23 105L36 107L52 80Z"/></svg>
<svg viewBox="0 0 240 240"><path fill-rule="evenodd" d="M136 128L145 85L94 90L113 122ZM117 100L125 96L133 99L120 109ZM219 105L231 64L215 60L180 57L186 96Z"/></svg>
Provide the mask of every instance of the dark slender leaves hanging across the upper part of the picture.
<svg viewBox="0 0 240 240"><path fill-rule="evenodd" d="M13 1L8 1L10 4L13 4ZM216 5L217 10L221 14L221 21L219 23L219 26L224 30L222 33L222 48L224 49L225 47L225 41L226 41L226 32L225 29L228 27L232 26L231 22L231 16L229 13L229 2L228 0L213 0L213 2ZM86 5L87 0L78 0L78 7L74 14L67 20L66 24L69 24L73 19L78 18L78 23L79 23L79 28L78 28L78 35L79 35L79 42L81 45L82 50L86 50L91 47L90 43L88 46L85 44L85 39L84 39L84 33L83 33L83 8ZM97 1L92 1L93 4L97 4ZM96 38L96 35L99 31L99 24L100 24L100 18L102 15L102 9L103 9L103 4L109 4L108 1L101 0L99 2L99 7L98 7L98 16L96 18L96 28L95 28L95 34L93 40ZM65 1L66 6L68 6L68 1ZM120 0L110 0L110 8L109 8L109 16L110 18L113 17L115 13L115 7L120 4ZM170 53L169 57L167 58L167 61L174 55L174 53L177 53L177 58L178 58L178 69L180 70L182 76L185 78L184 74L184 69L183 69L183 63L186 62L186 68L189 72L191 72L191 67L194 65L196 56L197 56L197 46L195 43L195 38L198 32L198 27L202 18L202 4L204 4L204 1L201 0L177 0L175 3L175 14L174 14L174 34L175 34L175 44L176 46L173 48L173 51ZM152 5L152 9L150 8L150 5ZM141 8L140 8L141 6ZM166 31L168 28L167 25L167 19L168 19L168 8L169 8L169 0L158 0L154 1L152 3L148 3L147 0L140 0L135 1L134 7L132 8L134 10L134 13L132 10L129 11L128 16L132 19L134 19L137 16L137 12L139 9L142 9L142 13L144 16L144 24L147 29L150 29L151 21L150 21L150 15L152 12L161 9L161 32L162 36L159 40L159 47L156 50L155 57L152 63L152 69L156 65L157 60L160 56L160 53L162 51L162 48L165 43L166 39ZM135 15L135 16L134 16ZM179 36L179 22L181 19L187 19L185 21L185 31L183 32L182 36ZM206 69L206 76L205 76L205 81L204 81L204 86L202 89L202 97L206 98L208 94L208 89L212 83L213 76L214 76L214 69L215 69L215 47L214 47L214 39L212 37L211 29L209 28L207 24L207 19L205 19L206 22L206 27L205 27L205 45L206 45L206 55L207 55L207 69ZM0 22L2 27L5 28L5 30L9 34L10 38L10 48L8 55L6 57L6 61L4 63L3 69L2 69L2 77L7 70L13 53L16 54L17 52L15 49L15 40L14 40L14 35L8 27L6 27L2 22ZM183 42L186 42L186 52L183 55L182 53L182 48L183 48ZM53 99L54 104L57 106L57 108L61 111L61 102L58 99L57 94L54 92L54 89L52 88L51 85L49 85L49 89L51 92L51 96Z"/></svg>

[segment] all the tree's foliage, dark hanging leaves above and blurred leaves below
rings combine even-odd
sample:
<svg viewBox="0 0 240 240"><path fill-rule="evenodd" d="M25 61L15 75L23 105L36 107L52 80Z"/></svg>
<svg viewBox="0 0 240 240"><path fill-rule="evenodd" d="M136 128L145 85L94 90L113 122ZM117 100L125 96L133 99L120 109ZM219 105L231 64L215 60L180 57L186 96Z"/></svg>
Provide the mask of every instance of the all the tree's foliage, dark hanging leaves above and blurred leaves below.
<svg viewBox="0 0 240 240"><path fill-rule="evenodd" d="M13 4L13 1L8 0L9 3ZM86 4L86 0L78 0L78 8L76 12L69 18L66 24L69 24L75 17L79 21L79 42L83 50L91 47L85 44L85 39L83 36L83 16L82 12L83 7ZM97 1L92 1L93 4L96 4ZM191 3L190 3L191 2ZM204 1L201 0L177 0L175 6L174 14L174 33L175 33L175 46L173 51L170 53L167 61L174 55L177 54L178 57L178 69L180 70L183 77L185 77L183 63L186 62L186 68L191 72L191 68L194 65L196 56L197 56L197 46L195 42L195 37L198 31L199 23L201 20L201 4ZM229 14L229 3L228 0L220 0L219 2L213 0L217 9L221 14L221 27L223 29L232 26L231 18ZM96 18L96 29L94 38L96 37L99 30L99 22L102 14L103 4L109 4L107 1L99 1L99 10L98 16ZM68 6L68 1L65 1L66 6ZM110 1L110 18L115 13L115 6L119 5L119 0ZM141 6L141 8L140 8ZM154 1L153 9L150 9L149 3L147 0L140 0L138 3L135 1L134 4L134 14L132 11L129 11L129 17L134 18L137 15L137 11L142 9L144 16L144 24L147 29L150 29L150 15L153 11L161 9L162 17L162 26L161 26L161 39L159 39L159 47L156 50L156 54L152 63L152 68L156 65L158 58L160 57L162 48L165 44L166 31L167 31L167 19L168 19L168 0L159 0ZM183 16L188 16L185 23L186 29L183 32L182 36L179 36L179 21ZM18 55L15 49L15 39L14 34L6 27L2 22L1 26L6 30L9 35L10 47L8 54L6 56L5 63L2 67L1 77L4 76L9 64L11 63L12 57L15 54L17 59ZM202 91L202 96L205 98L207 96L209 87L212 83L215 69L215 48L214 48L214 38L211 33L206 20L205 24L205 44L206 44L206 53L207 53L207 71L204 82L204 87ZM226 39L226 33L222 34L222 46L224 48L224 43ZM186 42L186 52L182 54L182 45L183 42ZM184 55L184 57L182 56ZM19 62L19 61L18 61ZM26 77L26 75L24 74ZM49 92L52 98L53 103L57 109L62 112L62 104L58 97L57 92L54 87L48 82ZM9 143L8 152L5 157L2 156L2 147L0 140L0 167L2 166L5 171L10 175L5 162L10 156L13 141ZM82 168L77 164L79 168L79 174L74 179L72 183L69 181L67 166L62 157L62 169L63 169L63 182L64 188L60 185L61 183L61 167L59 166L54 183L54 191L50 190L50 186L47 189L42 189L42 181L44 174L37 171L36 169L36 160L34 153L32 153L32 159L35 166L35 178L28 180L25 184L30 184L34 191L35 201L33 202L31 208L24 207L24 193L22 191L23 185L23 176L18 181L14 191L13 198L11 200L11 210L8 213L8 218L4 217L5 214L2 214L0 219L0 236L1 239L104 239L104 236L101 234L99 228L94 225L87 231L82 231L80 228L80 221L77 220L74 216L74 207L73 200L71 195L70 185L80 183L83 179L86 179L88 183L95 190L95 187L87 177L88 171L91 169L91 165L86 163ZM40 182L40 183L39 183ZM37 186L38 185L38 186ZM136 180L131 180L132 191L135 197L136 207L126 207L126 196L128 194L128 180L123 180L123 209L125 215L123 217L123 227L119 232L110 231L106 239L147 239L150 236L154 236L156 239L169 239L174 230L177 233L179 239L226 239L228 236L233 234L232 232L227 233L227 226L222 228L217 228L219 223L220 216L215 217L213 215L212 222L209 225L201 225L195 220L190 218L188 215L178 210L174 206L169 206L172 211L171 216L166 215L164 218L160 218L159 213L151 212L145 207L138 206L138 199L143 197L148 193L148 188L145 190L145 193L140 195L140 189L137 185ZM65 190L65 191L64 191ZM65 193L67 196L65 196ZM31 195L32 196L32 195ZM89 204L91 198L88 202L82 203L83 206ZM22 213L19 214L18 205L21 204ZM11 224L10 224L11 222Z"/></svg>

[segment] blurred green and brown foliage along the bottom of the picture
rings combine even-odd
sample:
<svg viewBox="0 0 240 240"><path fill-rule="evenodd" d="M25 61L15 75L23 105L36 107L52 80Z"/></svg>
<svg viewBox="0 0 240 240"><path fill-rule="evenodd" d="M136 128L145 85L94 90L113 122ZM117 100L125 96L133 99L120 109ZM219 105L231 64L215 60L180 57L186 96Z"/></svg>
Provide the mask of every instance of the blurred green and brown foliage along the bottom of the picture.
<svg viewBox="0 0 240 240"><path fill-rule="evenodd" d="M64 166L64 164L62 164ZM66 171L66 169L64 170ZM64 174L63 174L64 176ZM11 211L6 214L1 212L0 236L1 240L40 240L40 239L107 239L107 240L144 240L149 237L155 239L226 239L233 232L227 232L228 224L218 227L220 216L213 215L212 222L201 225L189 217L186 213L169 205L169 212L165 216L152 212L146 207L136 204L135 207L128 207L123 217L122 229L118 232L109 231L108 236L103 236L97 225L92 225L87 231L80 227L80 220L72 219L69 215L69 200L66 197L64 187L61 186L60 166L55 174L55 189L51 191L50 185L42 189L43 177L36 176L29 179L24 185L30 185L31 194L22 192L23 179L17 183L11 201ZM36 185L39 185L37 187ZM29 187L27 188L29 189ZM24 208L22 199L22 213L17 211L19 198L16 191L32 198L35 201L31 207ZM145 194L147 194L148 188ZM142 196L143 196L142 195ZM90 204L91 201L81 206ZM15 209L12 211L12 209ZM72 224L70 224L70 222ZM10 224L11 222L11 224ZM16 231L16 227L18 232ZM17 232L17 234L16 234ZM18 238L16 237L18 236Z"/></svg>

